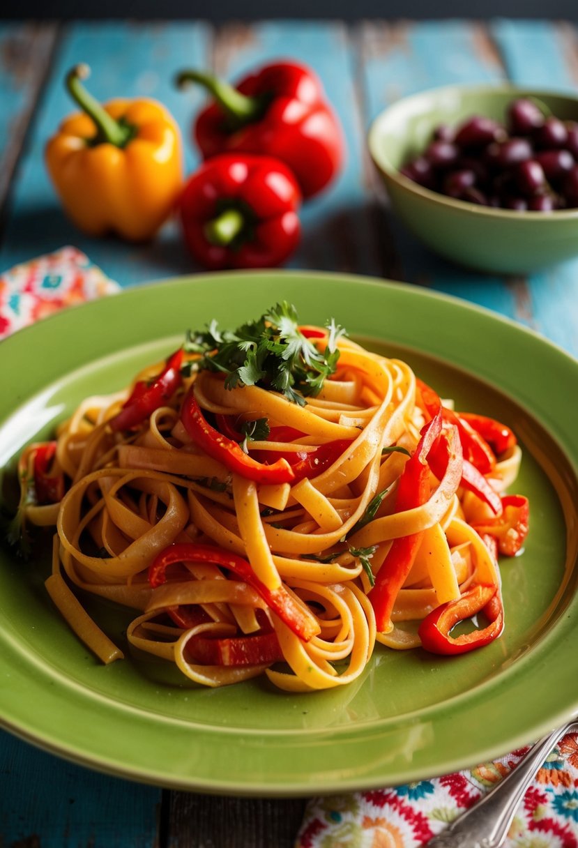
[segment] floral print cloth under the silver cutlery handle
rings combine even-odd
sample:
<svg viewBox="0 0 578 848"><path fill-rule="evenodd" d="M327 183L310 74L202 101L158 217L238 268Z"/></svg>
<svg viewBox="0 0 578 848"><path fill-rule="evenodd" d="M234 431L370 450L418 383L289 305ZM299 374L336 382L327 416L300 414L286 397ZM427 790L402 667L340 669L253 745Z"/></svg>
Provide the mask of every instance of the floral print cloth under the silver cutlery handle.
<svg viewBox="0 0 578 848"><path fill-rule="evenodd" d="M471 771L394 789L314 798L295 848L417 848L509 773L528 748ZM578 734L567 734L525 793L505 848L578 848Z"/></svg>

